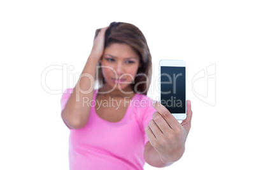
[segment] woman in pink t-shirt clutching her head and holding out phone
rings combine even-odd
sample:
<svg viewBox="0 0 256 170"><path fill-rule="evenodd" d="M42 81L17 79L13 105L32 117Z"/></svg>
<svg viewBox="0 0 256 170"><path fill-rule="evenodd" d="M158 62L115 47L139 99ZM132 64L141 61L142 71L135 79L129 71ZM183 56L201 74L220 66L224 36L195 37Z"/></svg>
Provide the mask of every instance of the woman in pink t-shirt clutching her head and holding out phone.
<svg viewBox="0 0 256 170"><path fill-rule="evenodd" d="M96 30L94 45L75 88L61 99L70 129L70 169L143 169L173 164L183 155L192 118L181 122L146 96L151 55L142 32L113 22ZM99 83L99 89L94 89Z"/></svg>

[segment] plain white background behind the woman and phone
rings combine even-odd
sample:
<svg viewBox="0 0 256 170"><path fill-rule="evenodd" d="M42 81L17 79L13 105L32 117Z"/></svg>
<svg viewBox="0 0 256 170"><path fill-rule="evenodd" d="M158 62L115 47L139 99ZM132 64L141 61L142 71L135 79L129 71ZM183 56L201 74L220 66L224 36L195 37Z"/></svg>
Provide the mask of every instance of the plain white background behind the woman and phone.
<svg viewBox="0 0 256 170"><path fill-rule="evenodd" d="M0 169L68 169L61 94L47 93L41 75L52 65L73 66L71 77L80 74L95 30L113 21L145 34L154 76L161 59L187 63L192 128L183 157L163 169L255 169L255 9L253 1L223 0L1 1ZM212 64L215 106L192 90L194 75ZM62 70L46 74L48 88L68 83ZM195 89L203 94L207 79L201 80ZM76 81L68 81L73 88Z"/></svg>

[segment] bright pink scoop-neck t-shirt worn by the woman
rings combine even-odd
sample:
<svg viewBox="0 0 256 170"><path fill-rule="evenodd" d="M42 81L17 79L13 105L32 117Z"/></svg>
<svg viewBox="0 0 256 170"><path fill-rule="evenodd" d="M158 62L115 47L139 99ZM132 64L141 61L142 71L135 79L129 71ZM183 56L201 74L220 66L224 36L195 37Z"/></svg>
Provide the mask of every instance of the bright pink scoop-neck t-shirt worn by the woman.
<svg viewBox="0 0 256 170"><path fill-rule="evenodd" d="M62 94L64 109L73 89ZM136 94L119 122L105 121L96 114L94 107L97 90L87 124L81 129L70 129L69 167L84 169L143 169L144 150L148 142L145 128L156 112L152 100Z"/></svg>

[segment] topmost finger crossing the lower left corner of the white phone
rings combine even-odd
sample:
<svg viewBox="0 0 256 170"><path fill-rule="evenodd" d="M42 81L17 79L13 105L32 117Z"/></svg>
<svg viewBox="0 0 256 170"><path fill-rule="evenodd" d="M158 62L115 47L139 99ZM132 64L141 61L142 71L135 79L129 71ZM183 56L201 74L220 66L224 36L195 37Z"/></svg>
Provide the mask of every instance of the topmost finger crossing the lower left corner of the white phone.
<svg viewBox="0 0 256 170"><path fill-rule="evenodd" d="M171 129L180 128L180 123L175 119L175 117L167 110L164 105L159 103L159 101L155 102L154 105L155 110L159 112L160 115L166 120L167 124L171 127Z"/></svg>

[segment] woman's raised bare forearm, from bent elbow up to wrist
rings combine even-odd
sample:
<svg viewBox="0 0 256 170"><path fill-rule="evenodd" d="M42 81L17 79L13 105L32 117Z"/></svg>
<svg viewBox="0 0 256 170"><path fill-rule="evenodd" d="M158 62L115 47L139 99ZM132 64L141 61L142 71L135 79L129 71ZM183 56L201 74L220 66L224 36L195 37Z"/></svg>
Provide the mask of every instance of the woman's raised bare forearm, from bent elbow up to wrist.
<svg viewBox="0 0 256 170"><path fill-rule="evenodd" d="M66 107L61 113L63 121L72 129L82 128L89 119L89 101L94 95L97 62L96 57L89 56L73 93L69 96Z"/></svg>

